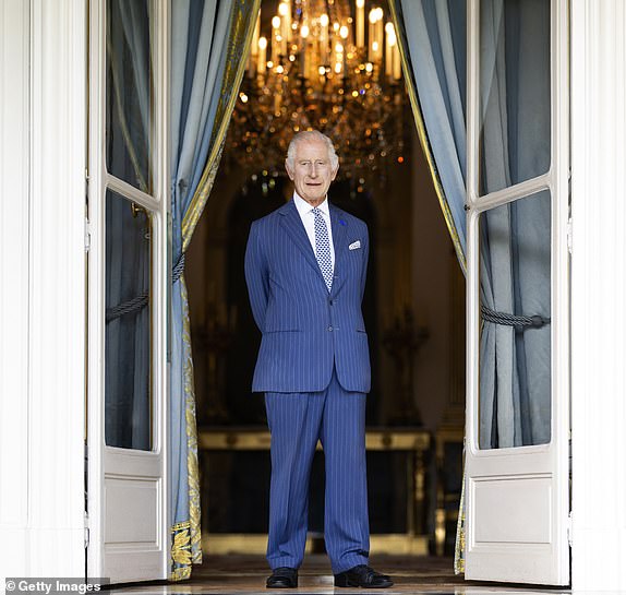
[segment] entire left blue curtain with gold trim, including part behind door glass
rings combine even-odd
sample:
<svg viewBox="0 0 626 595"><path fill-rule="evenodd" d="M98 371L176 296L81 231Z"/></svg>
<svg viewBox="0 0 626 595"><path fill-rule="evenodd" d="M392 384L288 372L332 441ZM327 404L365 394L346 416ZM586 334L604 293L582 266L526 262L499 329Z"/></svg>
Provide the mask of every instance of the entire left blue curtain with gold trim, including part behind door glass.
<svg viewBox="0 0 626 595"><path fill-rule="evenodd" d="M171 580L189 578L191 564L202 561L184 251L217 172L260 3L171 0L170 4ZM107 4L107 169L148 194L154 94L151 5L135 0ZM145 213L139 219L131 213L129 201L107 194L106 431L108 443L149 449L149 222Z"/></svg>

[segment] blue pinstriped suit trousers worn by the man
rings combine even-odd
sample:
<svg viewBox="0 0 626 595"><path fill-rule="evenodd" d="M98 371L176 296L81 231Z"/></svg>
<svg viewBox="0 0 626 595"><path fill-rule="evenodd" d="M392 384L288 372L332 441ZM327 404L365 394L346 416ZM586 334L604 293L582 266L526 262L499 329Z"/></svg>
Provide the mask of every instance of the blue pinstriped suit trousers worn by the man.
<svg viewBox="0 0 626 595"><path fill-rule="evenodd" d="M317 440L324 449L324 540L333 572L368 563L365 397L365 393L345 391L335 370L324 391L265 393L272 435L267 543L272 569L302 563Z"/></svg>

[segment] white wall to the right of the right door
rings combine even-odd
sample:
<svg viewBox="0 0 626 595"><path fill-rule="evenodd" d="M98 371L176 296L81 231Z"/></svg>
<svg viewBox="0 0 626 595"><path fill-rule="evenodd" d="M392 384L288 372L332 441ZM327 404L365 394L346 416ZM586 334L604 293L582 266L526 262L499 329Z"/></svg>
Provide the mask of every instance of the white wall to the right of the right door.
<svg viewBox="0 0 626 595"><path fill-rule="evenodd" d="M626 590L626 3L571 2L573 586Z"/></svg>

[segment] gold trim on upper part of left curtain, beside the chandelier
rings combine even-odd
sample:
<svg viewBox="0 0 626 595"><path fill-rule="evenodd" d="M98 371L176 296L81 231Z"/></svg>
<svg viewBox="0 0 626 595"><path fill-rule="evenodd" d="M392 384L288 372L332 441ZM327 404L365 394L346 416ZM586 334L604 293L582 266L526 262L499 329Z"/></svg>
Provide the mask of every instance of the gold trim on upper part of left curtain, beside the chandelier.
<svg viewBox="0 0 626 595"><path fill-rule="evenodd" d="M239 7L236 5L232 9L232 23L229 33L231 45L229 47L229 50L232 51L233 47L236 46L236 44L233 44L233 40L242 35L241 33L242 28L245 27L245 34L243 37L244 39L243 52L237 63L237 70L234 72L234 78L232 79L233 92L228 98L228 104L222 105L220 102L220 104L218 105L215 118L216 121L219 119L219 127L217 129L217 133L214 135L210 153L204 167L202 178L193 194L193 199L191 200L189 209L186 210L182 219L183 252L186 250L189 242L191 241L191 237L193 235L195 226L197 225L200 216L202 215L202 212L206 204L206 200L208 199L210 189L213 188L213 182L215 180L215 175L217 172L217 166L219 164L219 158L221 157L224 141L226 139L226 132L228 130L228 124L230 123L230 116L232 114L232 110L234 109L234 102L237 102L238 97L238 94L234 90L239 90L241 85L241 80L243 79L243 73L245 71L248 55L250 52L250 44L252 41L252 34L254 31L254 25L256 23L256 15L258 14L258 10L261 8L261 0L253 0L252 2L251 14L254 15L253 19L245 19L245 13L241 10L242 8L245 8L248 3L249 2L246 2L245 0L239 0ZM238 12L237 15L234 15L236 12ZM232 66L232 58L233 58L232 56L229 56L227 58L227 69L224 74L222 88L229 79L229 69Z"/></svg>

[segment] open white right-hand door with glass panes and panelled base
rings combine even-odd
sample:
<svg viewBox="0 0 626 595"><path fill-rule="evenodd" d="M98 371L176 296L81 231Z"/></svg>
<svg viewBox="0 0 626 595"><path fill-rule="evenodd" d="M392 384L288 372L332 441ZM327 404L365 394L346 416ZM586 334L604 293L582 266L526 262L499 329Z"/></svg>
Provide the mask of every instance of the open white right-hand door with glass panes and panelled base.
<svg viewBox="0 0 626 595"><path fill-rule="evenodd" d="M466 579L569 582L567 8L468 2Z"/></svg>

